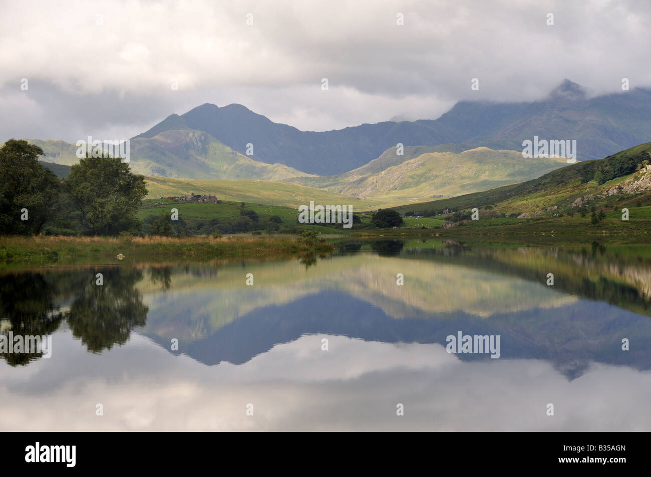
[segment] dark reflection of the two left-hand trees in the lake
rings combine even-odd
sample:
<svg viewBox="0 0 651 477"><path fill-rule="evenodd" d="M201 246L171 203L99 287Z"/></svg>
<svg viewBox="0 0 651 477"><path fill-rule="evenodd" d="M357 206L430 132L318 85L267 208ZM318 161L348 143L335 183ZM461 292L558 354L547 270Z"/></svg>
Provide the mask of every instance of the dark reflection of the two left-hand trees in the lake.
<svg viewBox="0 0 651 477"><path fill-rule="evenodd" d="M142 272L135 269L51 271L0 276L0 312L3 334L51 334L65 321L75 338L89 351L99 353L124 344L135 326L145 325L148 308L135 283ZM26 364L41 353L1 353L9 364Z"/></svg>

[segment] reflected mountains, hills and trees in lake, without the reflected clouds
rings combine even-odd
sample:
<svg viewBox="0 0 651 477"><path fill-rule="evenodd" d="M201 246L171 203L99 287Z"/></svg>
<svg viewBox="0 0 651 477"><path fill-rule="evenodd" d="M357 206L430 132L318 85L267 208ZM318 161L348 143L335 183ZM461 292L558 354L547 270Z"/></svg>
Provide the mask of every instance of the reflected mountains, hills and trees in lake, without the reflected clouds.
<svg viewBox="0 0 651 477"><path fill-rule="evenodd" d="M43 335L65 323L87 351L102 353L140 327L170 353L209 365L242 364L305 335L445 346L448 335L463 331L500 335L501 360L548 361L570 380L590 362L651 366L651 259L644 247L387 239L342 241L337 251L327 260L1 275L1 329ZM255 286L245 285L247 273ZM404 286L396 285L397 273ZM178 351L169 346L174 338ZM634 338L635 349L622 351L624 338ZM38 357L3 353L12 366Z"/></svg>

